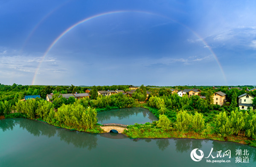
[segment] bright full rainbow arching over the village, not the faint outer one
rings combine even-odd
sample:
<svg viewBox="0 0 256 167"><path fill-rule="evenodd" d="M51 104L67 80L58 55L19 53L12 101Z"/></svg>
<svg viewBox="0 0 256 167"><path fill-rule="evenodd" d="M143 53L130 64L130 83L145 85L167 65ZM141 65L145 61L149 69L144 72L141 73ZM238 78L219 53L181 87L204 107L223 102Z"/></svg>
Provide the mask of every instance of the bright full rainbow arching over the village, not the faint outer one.
<svg viewBox="0 0 256 167"><path fill-rule="evenodd" d="M72 30L73 28L75 28L76 26L78 26L78 25L80 25L80 24L82 24L82 23L85 23L85 22L87 22L87 21L90 21L90 20L92 20L92 19L95 19L95 18L98 18L98 17L103 17L103 16L106 16L106 15L111 15L111 14L129 13L129 12L143 13L143 14L151 14L151 15L157 15L157 16L160 16L160 17L165 17L165 18L167 18L167 19L169 19L169 20L172 20L172 21L174 21L174 22L176 22L176 23L178 23L178 24L184 26L184 27L187 28L188 30L190 30L190 31L191 31L193 34L195 34L195 36L198 37L198 39L200 39L200 40L204 43L204 45L209 49L209 51L210 51L211 54L213 55L215 61L217 62L218 66L219 66L219 68L220 68L220 70L221 70L221 73L222 73L222 75L223 75L223 77L224 77L224 80L225 80L225 82L226 82L226 84L227 84L226 76L225 76L224 71L223 71L223 69L222 69L222 67L221 67L221 63L218 61L218 58L217 58L216 54L212 51L212 49L209 47L209 45L207 44L207 42L206 42L202 37L200 37L196 32L192 31L192 29L190 29L190 28L187 27L186 25L183 25L182 23L179 23L179 22L177 22L176 20L173 20L173 19L171 19L171 18L169 18L169 17L163 16L163 15L160 15L160 14L154 14L154 13L147 12L147 11L110 11L110 12L106 12L106 13L102 13L102 14L96 14L96 15L91 16L91 17L87 17L87 18L85 18L84 20L79 21L78 23L76 23L76 24L70 26L70 27L67 28L64 32L62 32L62 33L52 42L52 44L47 48L47 50L45 51L45 53L44 53L44 55L43 55L41 61L40 61L39 64L38 64L38 67L37 67L37 69L36 69L36 71L35 71L35 74L34 74L34 77L33 77L33 80L32 80L32 85L35 84L36 76L37 76L37 74L38 74L38 71L39 71L39 68L40 68L42 62L44 61L44 58L47 56L47 54L48 54L49 51L52 49L52 47L61 39L61 37L63 37L65 34L67 34L69 31L71 31L71 30Z"/></svg>

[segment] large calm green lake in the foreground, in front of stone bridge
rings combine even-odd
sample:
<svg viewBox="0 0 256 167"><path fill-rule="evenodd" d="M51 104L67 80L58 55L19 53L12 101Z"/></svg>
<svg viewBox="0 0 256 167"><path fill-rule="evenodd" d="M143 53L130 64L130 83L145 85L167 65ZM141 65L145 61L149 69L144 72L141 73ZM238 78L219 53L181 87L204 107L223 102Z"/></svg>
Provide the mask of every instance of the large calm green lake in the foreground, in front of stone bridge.
<svg viewBox="0 0 256 167"><path fill-rule="evenodd" d="M231 150L230 163L192 161L199 148L204 157ZM247 150L249 163L235 163L236 149ZM199 152L198 152L198 155ZM222 158L215 158L221 160ZM208 160L214 160L209 158ZM29 119L0 120L0 167L255 167L256 148L231 142L196 139L129 139L122 134L56 128Z"/></svg>

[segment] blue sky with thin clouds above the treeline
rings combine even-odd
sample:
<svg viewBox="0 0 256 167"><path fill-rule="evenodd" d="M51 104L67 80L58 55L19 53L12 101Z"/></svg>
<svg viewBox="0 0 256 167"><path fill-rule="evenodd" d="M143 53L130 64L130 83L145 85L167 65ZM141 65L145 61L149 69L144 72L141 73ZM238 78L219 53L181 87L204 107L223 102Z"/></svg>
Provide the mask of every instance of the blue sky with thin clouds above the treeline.
<svg viewBox="0 0 256 167"><path fill-rule="evenodd" d="M256 85L255 8L253 0L0 0L0 83Z"/></svg>

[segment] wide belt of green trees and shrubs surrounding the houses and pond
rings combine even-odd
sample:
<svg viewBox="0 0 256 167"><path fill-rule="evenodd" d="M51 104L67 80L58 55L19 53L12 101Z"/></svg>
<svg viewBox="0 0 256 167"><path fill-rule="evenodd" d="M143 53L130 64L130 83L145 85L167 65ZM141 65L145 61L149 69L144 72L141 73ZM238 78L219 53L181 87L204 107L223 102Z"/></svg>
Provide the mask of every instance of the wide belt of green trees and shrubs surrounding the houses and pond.
<svg viewBox="0 0 256 167"><path fill-rule="evenodd" d="M220 86L163 87L141 85L132 95L116 93L98 95L98 91L130 91L132 85L112 86L41 86L1 85L0 118L29 118L47 122L67 129L102 133L97 124L98 112L117 108L143 107L150 110L159 121L129 125L125 134L132 138L198 138L240 142L256 146L256 113L253 108L240 110L238 96L247 93L256 97L256 91L247 91L252 86L232 88ZM178 96L172 89L200 89L201 96ZM85 93L90 89L90 98L64 98L64 93ZM213 104L213 93L226 93L224 105ZM147 97L147 93L150 92ZM52 93L52 102L45 100ZM26 95L41 98L21 101ZM253 99L256 106L256 98ZM114 123L114 122L113 122ZM243 132L244 136L237 136Z"/></svg>

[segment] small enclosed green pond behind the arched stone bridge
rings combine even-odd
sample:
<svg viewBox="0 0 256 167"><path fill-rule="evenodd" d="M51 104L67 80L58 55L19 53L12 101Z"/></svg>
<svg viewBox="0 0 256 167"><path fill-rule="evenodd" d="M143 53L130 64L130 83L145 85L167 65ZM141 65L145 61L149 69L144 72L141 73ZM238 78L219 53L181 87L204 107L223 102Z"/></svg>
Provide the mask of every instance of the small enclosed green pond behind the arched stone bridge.
<svg viewBox="0 0 256 167"><path fill-rule="evenodd" d="M122 108L105 111L97 114L98 123L134 125L134 123L145 124L146 122L157 121L158 119L145 108Z"/></svg>

